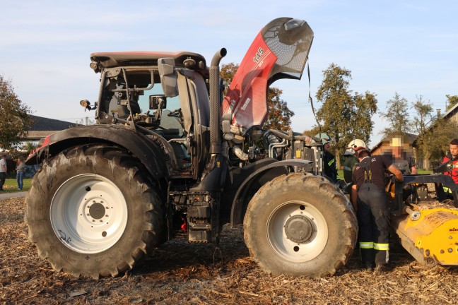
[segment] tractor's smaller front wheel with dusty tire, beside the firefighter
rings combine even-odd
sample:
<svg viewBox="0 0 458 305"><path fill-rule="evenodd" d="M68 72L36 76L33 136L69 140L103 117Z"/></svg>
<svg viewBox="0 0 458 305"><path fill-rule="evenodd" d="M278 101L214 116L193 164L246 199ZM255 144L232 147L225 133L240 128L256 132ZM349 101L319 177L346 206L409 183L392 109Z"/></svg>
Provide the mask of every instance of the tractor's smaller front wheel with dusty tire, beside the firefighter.
<svg viewBox="0 0 458 305"><path fill-rule="evenodd" d="M288 174L262 186L244 220L249 253L267 273L334 275L353 253L356 215L336 186L309 174Z"/></svg>

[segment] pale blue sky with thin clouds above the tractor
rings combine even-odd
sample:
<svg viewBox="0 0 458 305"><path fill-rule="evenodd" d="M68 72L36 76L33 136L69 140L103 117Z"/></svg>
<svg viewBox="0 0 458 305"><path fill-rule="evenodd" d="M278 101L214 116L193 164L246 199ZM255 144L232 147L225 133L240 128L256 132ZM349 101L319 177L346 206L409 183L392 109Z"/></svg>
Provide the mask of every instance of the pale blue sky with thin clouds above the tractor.
<svg viewBox="0 0 458 305"><path fill-rule="evenodd" d="M395 92L409 102L422 95L442 113L445 95L458 95L458 2L452 0L0 0L0 6L0 74L37 116L71 122L93 117L79 105L98 97L92 52L187 50L210 61L225 47L222 64L238 64L259 30L277 17L307 20L315 32L312 97L331 63L351 71L353 92L375 93L382 111ZM295 112L293 129L311 128L307 73L274 85ZM372 120L373 145L386 122Z"/></svg>

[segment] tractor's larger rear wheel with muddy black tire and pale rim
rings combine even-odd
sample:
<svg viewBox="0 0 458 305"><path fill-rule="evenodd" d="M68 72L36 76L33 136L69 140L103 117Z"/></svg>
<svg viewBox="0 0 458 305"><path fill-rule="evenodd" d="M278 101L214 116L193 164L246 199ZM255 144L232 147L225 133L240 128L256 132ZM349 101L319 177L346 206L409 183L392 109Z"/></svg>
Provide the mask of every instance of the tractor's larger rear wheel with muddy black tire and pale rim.
<svg viewBox="0 0 458 305"><path fill-rule="evenodd" d="M25 199L28 238L54 270L116 276L160 243L155 182L120 148L84 145L45 162Z"/></svg>

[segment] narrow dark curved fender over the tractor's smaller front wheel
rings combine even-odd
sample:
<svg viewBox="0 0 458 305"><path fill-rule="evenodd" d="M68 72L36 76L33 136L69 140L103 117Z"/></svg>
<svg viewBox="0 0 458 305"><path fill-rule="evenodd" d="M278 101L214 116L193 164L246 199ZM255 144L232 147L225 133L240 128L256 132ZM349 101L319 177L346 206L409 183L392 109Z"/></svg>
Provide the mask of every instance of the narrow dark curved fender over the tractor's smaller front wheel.
<svg viewBox="0 0 458 305"><path fill-rule="evenodd" d="M305 167L305 165L309 165L310 163L312 163L312 161L302 159L281 160L261 167L250 174L247 179L240 184L237 193L235 193L232 208L230 210L230 227L235 227L243 222L243 211L247 199L245 198L247 191L251 189L250 186L252 186L254 182L259 181L263 174L269 172L269 174L274 174L274 177L278 177L281 174L288 174L288 172L290 172L288 171L288 167ZM271 179L274 177L271 177Z"/></svg>

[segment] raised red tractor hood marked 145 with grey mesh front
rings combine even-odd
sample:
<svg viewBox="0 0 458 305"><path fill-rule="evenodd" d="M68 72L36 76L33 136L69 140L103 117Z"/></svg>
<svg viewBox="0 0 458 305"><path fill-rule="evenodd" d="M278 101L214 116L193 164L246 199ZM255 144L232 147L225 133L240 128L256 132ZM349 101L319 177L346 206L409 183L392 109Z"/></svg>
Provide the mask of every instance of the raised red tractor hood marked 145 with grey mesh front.
<svg viewBox="0 0 458 305"><path fill-rule="evenodd" d="M300 79L313 40L304 20L277 18L259 32L230 83L222 104L241 135L262 126L268 114L267 88L281 78Z"/></svg>

